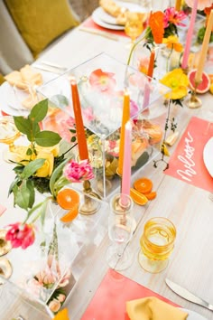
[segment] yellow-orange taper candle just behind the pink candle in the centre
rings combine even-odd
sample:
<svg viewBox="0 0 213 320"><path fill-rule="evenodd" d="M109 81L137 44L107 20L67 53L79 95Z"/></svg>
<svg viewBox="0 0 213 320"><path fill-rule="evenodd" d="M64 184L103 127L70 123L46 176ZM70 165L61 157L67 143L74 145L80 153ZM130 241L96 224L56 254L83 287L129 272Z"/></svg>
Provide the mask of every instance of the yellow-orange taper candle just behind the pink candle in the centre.
<svg viewBox="0 0 213 320"><path fill-rule="evenodd" d="M120 137L120 146L119 146L119 161L117 173L123 174L123 163L124 163L124 148L125 148L125 124L130 119L130 98L129 93L125 91L124 96L124 106L123 106L123 116L121 124L121 137Z"/></svg>

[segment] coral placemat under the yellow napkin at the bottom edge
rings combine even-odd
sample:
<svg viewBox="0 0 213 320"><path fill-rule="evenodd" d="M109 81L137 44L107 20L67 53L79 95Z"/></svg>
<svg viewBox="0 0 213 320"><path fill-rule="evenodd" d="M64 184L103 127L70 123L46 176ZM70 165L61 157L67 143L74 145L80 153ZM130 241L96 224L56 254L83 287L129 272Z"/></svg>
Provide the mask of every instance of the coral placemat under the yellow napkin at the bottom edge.
<svg viewBox="0 0 213 320"><path fill-rule="evenodd" d="M125 302L145 296L156 296L172 306L177 306L147 287L108 269L81 320L129 320L125 312Z"/></svg>

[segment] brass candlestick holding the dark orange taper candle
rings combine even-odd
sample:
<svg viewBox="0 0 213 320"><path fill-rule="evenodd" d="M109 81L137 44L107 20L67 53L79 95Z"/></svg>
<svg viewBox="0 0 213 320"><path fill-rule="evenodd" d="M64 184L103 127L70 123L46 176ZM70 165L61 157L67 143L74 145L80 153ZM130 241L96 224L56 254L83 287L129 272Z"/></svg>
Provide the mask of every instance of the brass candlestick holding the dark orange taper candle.
<svg viewBox="0 0 213 320"><path fill-rule="evenodd" d="M88 195L84 195L84 203L80 205L79 213L85 215L94 214L100 207L100 203L96 199L101 200L101 197L92 190L91 184L88 180L84 181L83 187L83 193L87 193Z"/></svg>

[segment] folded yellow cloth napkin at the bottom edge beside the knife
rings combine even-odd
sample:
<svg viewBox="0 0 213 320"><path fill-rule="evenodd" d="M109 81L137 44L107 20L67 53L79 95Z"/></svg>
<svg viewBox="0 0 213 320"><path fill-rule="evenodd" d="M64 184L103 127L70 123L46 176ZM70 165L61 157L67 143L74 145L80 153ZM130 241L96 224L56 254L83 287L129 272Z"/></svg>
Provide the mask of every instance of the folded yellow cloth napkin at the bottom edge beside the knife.
<svg viewBox="0 0 213 320"><path fill-rule="evenodd" d="M188 314L154 296L126 302L131 320L185 320Z"/></svg>

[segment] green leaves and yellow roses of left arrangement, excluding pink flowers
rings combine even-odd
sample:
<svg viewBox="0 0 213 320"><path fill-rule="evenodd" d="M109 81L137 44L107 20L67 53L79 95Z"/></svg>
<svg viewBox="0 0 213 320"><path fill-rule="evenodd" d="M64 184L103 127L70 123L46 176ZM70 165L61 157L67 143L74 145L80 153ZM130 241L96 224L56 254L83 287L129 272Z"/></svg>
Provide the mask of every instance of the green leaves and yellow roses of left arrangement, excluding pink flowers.
<svg viewBox="0 0 213 320"><path fill-rule="evenodd" d="M30 142L29 146L23 148L25 151L23 155L19 155L21 160L15 163L16 175L9 188L9 194L14 194L14 206L17 205L27 212L24 222L28 221L35 212L36 215L31 223L39 216L42 217L42 222L44 221L50 197L34 205L35 189L40 193L51 193L51 197L56 199L60 188L70 183L66 180L63 184L57 185L63 166L69 160L65 155L75 145L62 155L58 155L54 148L60 143L61 137L58 133L41 130L40 127L40 122L46 117L47 112L48 100L45 99L32 108L27 118L14 117L15 126ZM51 151L47 151L50 147Z"/></svg>

